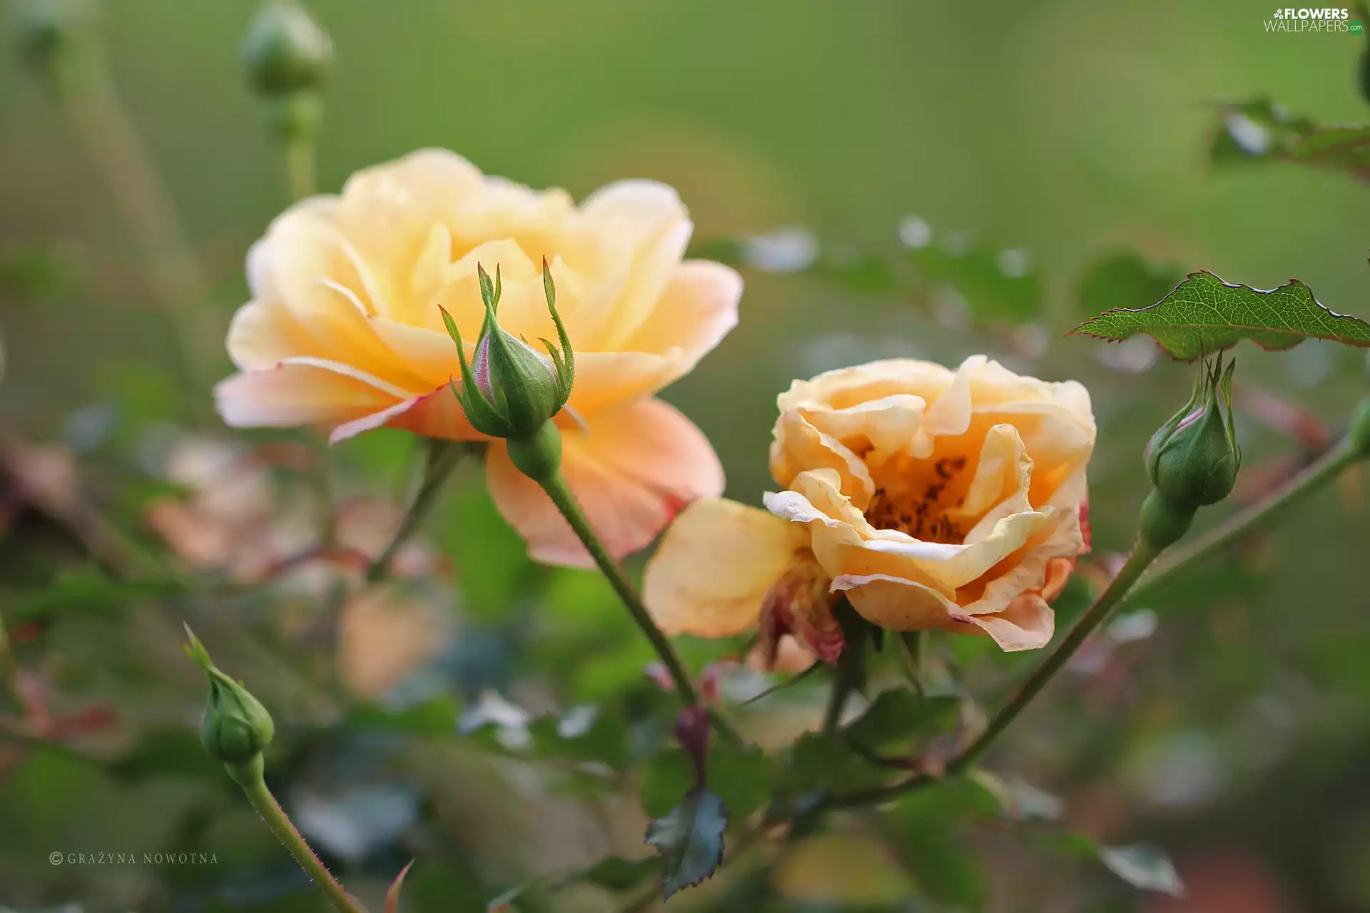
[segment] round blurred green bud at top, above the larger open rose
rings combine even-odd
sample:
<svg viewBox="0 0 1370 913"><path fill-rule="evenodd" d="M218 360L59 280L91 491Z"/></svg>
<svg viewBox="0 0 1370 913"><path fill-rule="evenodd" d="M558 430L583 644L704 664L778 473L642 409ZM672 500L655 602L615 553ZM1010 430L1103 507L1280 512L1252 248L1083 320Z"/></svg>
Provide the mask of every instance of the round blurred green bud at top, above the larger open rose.
<svg viewBox="0 0 1370 913"><path fill-rule="evenodd" d="M295 3L262 7L242 41L242 64L263 96L318 92L333 63L333 41Z"/></svg>

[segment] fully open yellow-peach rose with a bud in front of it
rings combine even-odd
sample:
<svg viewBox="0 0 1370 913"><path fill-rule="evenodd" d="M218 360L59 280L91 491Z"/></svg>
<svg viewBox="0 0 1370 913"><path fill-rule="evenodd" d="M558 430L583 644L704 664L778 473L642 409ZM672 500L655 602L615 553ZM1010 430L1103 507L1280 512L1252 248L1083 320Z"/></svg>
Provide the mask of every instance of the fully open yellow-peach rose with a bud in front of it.
<svg viewBox="0 0 1370 913"><path fill-rule="evenodd" d="M577 207L564 190L489 178L440 149L367 168L340 196L286 209L252 246L252 300L227 338L240 374L215 389L219 412L238 427L322 426L330 441L381 426L482 439L447 386L460 370L438 305L474 341L477 263L499 266L504 329L556 338L545 256L575 352L556 417L562 468L606 546L641 549L685 504L723 490L708 441L652 398L737 323L738 275L681 260L692 227L675 192L651 181L611 183ZM590 564L503 441L489 446L486 478L534 558Z"/></svg>

